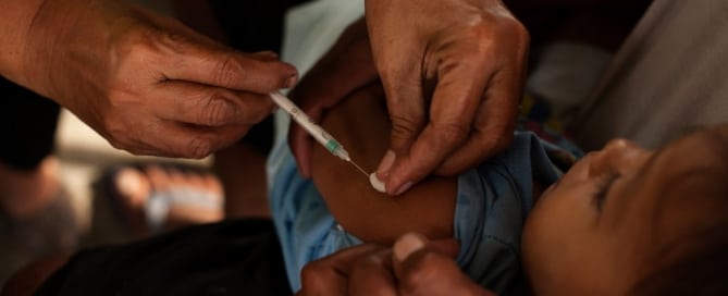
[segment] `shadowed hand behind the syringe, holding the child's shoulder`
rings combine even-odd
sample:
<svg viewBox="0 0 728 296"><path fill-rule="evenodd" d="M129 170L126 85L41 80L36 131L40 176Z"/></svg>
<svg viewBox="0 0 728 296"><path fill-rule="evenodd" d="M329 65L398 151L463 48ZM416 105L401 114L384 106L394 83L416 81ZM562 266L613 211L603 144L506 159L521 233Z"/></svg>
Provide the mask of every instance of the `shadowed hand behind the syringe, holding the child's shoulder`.
<svg viewBox="0 0 728 296"><path fill-rule="evenodd" d="M379 79L371 57L367 24L361 18L349 25L334 46L300 79L289 96L309 118L319 122L326 109L348 94ZM298 170L311 176L313 139L294 122L288 134Z"/></svg>

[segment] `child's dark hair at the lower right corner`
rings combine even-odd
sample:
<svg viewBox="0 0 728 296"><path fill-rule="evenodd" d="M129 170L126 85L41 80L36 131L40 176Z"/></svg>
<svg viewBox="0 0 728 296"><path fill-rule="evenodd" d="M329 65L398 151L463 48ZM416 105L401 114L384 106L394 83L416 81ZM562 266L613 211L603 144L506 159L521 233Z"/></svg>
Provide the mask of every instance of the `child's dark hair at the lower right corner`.
<svg viewBox="0 0 728 296"><path fill-rule="evenodd" d="M651 249L632 295L728 295L728 139L708 134L716 144L713 165L664 189L664 201L680 200L666 207L692 210L686 229Z"/></svg>

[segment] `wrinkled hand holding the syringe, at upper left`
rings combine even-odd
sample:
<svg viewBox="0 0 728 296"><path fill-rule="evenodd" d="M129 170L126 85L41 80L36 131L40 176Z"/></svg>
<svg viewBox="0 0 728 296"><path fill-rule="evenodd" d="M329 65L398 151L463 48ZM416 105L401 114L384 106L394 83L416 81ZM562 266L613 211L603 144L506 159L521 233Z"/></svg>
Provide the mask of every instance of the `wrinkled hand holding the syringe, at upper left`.
<svg viewBox="0 0 728 296"><path fill-rule="evenodd" d="M293 85L271 52L240 53L123 1L46 1L29 29L26 85L116 148L202 158L242 137Z"/></svg>

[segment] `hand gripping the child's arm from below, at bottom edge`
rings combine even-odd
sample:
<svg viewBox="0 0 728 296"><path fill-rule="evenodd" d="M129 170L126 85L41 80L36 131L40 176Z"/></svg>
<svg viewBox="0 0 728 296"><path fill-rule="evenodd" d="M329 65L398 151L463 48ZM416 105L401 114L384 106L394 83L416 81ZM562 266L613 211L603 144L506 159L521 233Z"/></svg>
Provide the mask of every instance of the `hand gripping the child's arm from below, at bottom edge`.
<svg viewBox="0 0 728 296"><path fill-rule="evenodd" d="M310 262L297 295L494 295L465 275L455 240L403 235L393 248L361 245Z"/></svg>

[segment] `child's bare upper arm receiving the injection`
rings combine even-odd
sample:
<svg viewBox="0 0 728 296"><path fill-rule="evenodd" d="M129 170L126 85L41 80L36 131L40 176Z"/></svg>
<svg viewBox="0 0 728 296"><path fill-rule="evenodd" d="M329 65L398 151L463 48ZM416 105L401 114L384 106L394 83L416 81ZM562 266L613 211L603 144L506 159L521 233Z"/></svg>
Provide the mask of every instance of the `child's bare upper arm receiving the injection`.
<svg viewBox="0 0 728 296"><path fill-rule="evenodd" d="M388 144L390 119L381 86L359 89L322 120L351 160L373 172ZM312 178L329 209L350 234L365 242L392 244L406 232L430 238L453 236L456 177L430 177L402 196L374 190L354 166L314 145Z"/></svg>

